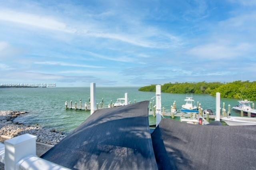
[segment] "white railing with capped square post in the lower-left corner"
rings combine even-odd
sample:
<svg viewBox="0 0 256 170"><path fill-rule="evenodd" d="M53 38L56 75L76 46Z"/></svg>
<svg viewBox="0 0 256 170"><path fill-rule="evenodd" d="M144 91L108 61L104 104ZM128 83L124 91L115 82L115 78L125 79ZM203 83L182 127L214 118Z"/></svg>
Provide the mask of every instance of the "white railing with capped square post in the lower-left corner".
<svg viewBox="0 0 256 170"><path fill-rule="evenodd" d="M0 162L5 170L69 170L36 156L36 136L31 134L0 143Z"/></svg>

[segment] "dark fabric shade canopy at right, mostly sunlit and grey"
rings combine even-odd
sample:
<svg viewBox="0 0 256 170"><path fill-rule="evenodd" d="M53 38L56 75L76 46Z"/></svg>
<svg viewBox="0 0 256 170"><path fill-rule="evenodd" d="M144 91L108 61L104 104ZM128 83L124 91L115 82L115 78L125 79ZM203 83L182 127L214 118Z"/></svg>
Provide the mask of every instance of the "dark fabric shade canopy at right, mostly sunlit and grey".
<svg viewBox="0 0 256 170"><path fill-rule="evenodd" d="M201 126L162 119L152 143L158 169L256 169L256 126Z"/></svg>

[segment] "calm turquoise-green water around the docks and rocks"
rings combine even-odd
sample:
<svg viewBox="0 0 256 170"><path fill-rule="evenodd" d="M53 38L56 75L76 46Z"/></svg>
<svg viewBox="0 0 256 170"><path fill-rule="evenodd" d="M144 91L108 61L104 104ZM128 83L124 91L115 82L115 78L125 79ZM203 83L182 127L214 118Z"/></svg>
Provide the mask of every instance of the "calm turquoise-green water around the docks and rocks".
<svg viewBox="0 0 256 170"><path fill-rule="evenodd" d="M153 92L138 91L138 87L96 87L96 102L100 103L104 98L104 103L113 102L117 98L124 97L128 93L128 98L132 103L136 101L150 100L155 96ZM89 87L56 87L56 88L24 88L24 89L0 89L0 110L20 110L28 111L29 114L22 115L17 121L24 124L39 124L46 128L56 128L64 132L70 132L78 127L90 116L90 112L66 110L65 101L72 100L73 103L82 99L82 103L88 103L90 97ZM162 93L162 106L170 109L174 101L178 109L184 104L186 94ZM193 95L195 101L199 101L204 109L212 109L215 112L215 97L210 95ZM151 99L153 101L154 99ZM236 99L222 99L222 102L231 107L238 104ZM232 112L232 115L239 114ZM155 118L150 117L150 123L155 122Z"/></svg>

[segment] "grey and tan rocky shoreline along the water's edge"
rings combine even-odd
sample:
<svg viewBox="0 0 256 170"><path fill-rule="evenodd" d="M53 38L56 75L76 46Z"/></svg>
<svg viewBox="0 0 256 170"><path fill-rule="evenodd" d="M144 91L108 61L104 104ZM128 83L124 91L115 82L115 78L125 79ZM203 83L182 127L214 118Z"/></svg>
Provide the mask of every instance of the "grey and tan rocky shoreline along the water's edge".
<svg viewBox="0 0 256 170"><path fill-rule="evenodd" d="M0 111L0 135L10 138L21 134L33 134L37 136L36 141L44 144L57 144L66 137L62 132L55 129L41 128L32 125L23 125L15 121L15 119L27 112L22 111Z"/></svg>

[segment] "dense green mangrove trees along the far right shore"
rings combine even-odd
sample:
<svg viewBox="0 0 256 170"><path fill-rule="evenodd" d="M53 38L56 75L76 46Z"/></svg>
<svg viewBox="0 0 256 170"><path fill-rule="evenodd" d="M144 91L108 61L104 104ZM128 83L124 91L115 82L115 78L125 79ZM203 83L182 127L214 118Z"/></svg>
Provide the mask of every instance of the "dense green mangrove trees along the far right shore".
<svg viewBox="0 0 256 170"><path fill-rule="evenodd" d="M156 91L156 85L141 87L139 91ZM256 101L256 81L234 81L232 83L166 83L162 85L164 93L197 93L215 96L220 92L221 97Z"/></svg>

